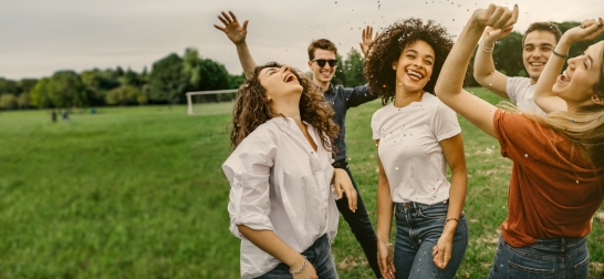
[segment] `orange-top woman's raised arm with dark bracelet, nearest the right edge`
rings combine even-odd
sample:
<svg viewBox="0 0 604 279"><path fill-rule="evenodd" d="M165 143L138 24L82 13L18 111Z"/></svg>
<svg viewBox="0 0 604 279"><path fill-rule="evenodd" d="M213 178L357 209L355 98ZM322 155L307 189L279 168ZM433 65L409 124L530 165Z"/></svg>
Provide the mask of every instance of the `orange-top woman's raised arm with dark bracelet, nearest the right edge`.
<svg viewBox="0 0 604 279"><path fill-rule="evenodd" d="M558 76L560 75L560 70L564 65L564 55L567 56L571 45L575 42L593 40L600 33L604 31L604 20L585 20L581 23L581 27L575 27L560 38L560 42L555 45L553 54L537 85L534 87L533 101L542 111L545 113L555 112L555 111L566 111L567 104L564 100L559 97L552 92L552 87L555 84Z"/></svg>

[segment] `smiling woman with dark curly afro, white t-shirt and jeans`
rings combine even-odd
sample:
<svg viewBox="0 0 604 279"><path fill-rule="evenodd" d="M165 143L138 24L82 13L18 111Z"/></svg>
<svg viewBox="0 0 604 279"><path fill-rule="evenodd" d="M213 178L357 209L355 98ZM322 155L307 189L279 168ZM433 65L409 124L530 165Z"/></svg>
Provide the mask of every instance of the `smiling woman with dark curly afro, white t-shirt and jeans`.
<svg viewBox="0 0 604 279"><path fill-rule="evenodd" d="M388 27L366 59L369 87L384 104L372 117L379 166L377 254L384 278L452 278L466 251L461 128L455 112L434 95L452 44L444 27L407 19Z"/></svg>

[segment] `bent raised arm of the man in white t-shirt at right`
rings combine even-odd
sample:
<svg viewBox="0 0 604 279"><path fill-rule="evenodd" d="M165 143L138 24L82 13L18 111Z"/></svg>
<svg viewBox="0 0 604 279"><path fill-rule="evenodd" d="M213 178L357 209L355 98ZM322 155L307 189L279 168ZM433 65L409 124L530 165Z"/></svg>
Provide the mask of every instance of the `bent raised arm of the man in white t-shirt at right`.
<svg viewBox="0 0 604 279"><path fill-rule="evenodd" d="M506 29L493 29L491 27L487 27L473 60L473 78L476 81L480 83L480 85L504 99L510 99L508 96L508 92L506 91L508 76L494 69L492 52L494 49L494 42L508 35L512 31L512 28L513 27L508 27Z"/></svg>

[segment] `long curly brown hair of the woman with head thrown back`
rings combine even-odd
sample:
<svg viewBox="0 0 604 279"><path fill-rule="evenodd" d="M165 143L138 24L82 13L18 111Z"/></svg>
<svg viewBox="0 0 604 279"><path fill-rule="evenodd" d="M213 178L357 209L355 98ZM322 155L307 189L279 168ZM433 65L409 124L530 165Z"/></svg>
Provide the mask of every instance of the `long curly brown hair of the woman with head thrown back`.
<svg viewBox="0 0 604 279"><path fill-rule="evenodd" d="M275 114L270 106L270 100L267 97L265 89L260 84L258 75L265 68L282 68L277 62L269 62L257 66L253 76L247 80L237 92L237 99L232 107L232 125L230 132L231 151L246 138L251 132L268 120L277 116L285 117L282 114ZM337 135L340 127L332 121L333 108L323 100L323 94L305 75L293 69L300 85L302 85L302 95L300 96L300 116L302 121L311 124L319 130L321 144L329 152L334 152L335 146L332 141Z"/></svg>

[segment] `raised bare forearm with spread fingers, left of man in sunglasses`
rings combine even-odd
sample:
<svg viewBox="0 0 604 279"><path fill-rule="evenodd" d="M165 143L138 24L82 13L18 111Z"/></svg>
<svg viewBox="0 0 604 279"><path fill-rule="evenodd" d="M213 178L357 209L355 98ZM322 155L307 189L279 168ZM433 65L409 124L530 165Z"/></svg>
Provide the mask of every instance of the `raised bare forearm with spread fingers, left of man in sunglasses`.
<svg viewBox="0 0 604 279"><path fill-rule="evenodd" d="M248 35L248 21L246 20L243 25L240 25L235 13L229 11L229 14L222 12L221 16L218 16L218 19L225 27L217 24L214 24L214 27L225 32L229 40L235 43L237 55L239 56L239 62L241 63L241 68L243 68L246 78L251 79L253 76L253 70L256 69L256 62L253 61L250 50L248 49L248 43L246 42L246 37Z"/></svg>

